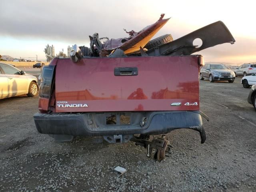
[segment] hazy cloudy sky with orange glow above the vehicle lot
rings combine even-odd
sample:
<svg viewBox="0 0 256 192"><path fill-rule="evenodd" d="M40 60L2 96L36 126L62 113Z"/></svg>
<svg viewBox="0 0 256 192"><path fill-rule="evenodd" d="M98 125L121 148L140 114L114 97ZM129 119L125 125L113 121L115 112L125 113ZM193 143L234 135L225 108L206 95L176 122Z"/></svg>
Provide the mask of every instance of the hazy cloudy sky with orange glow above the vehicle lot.
<svg viewBox="0 0 256 192"><path fill-rule="evenodd" d="M44 48L55 53L74 44L89 45L89 35L128 37L158 20L171 19L154 38L180 38L221 20L236 42L198 52L208 62L256 62L256 1L243 0L9 0L0 1L0 55L45 60Z"/></svg>

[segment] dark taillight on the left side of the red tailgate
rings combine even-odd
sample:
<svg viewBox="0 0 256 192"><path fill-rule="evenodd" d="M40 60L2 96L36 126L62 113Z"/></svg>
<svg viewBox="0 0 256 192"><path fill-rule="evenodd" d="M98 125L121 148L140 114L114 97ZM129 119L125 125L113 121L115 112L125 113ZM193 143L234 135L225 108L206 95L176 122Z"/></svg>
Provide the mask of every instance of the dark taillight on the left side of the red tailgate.
<svg viewBox="0 0 256 192"><path fill-rule="evenodd" d="M50 98L54 67L55 66L44 66L42 70L41 83L39 88L40 98Z"/></svg>

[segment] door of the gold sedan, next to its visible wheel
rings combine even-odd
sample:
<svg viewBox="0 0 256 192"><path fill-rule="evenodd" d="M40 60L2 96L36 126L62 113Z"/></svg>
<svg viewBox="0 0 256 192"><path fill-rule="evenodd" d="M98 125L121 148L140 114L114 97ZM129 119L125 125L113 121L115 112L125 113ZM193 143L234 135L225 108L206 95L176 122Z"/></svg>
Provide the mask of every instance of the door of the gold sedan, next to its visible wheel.
<svg viewBox="0 0 256 192"><path fill-rule="evenodd" d="M8 78L10 96L28 93L28 78L21 75L20 70L7 64L0 64L0 67Z"/></svg>

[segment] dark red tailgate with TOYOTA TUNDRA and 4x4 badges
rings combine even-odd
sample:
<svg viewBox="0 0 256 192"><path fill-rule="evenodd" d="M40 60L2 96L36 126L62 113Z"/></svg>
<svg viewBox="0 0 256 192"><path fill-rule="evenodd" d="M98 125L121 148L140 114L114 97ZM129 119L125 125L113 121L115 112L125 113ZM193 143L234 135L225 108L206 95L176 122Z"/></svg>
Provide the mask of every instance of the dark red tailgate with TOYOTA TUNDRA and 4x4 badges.
<svg viewBox="0 0 256 192"><path fill-rule="evenodd" d="M56 112L199 110L200 57L58 59Z"/></svg>

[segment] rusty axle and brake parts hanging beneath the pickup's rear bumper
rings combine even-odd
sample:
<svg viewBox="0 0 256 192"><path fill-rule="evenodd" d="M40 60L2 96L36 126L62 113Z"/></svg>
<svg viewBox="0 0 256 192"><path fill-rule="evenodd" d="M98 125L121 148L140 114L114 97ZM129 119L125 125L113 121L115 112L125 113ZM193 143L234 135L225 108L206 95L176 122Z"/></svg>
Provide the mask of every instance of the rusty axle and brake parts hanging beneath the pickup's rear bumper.
<svg viewBox="0 0 256 192"><path fill-rule="evenodd" d="M150 158L152 150L155 149L154 159L162 161L166 156L166 153L170 153L172 146L166 135L149 140L149 135L140 135L139 137L133 136L131 141L135 142L136 145L143 146L147 149L147 157Z"/></svg>

